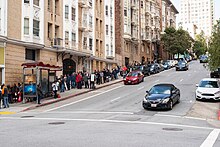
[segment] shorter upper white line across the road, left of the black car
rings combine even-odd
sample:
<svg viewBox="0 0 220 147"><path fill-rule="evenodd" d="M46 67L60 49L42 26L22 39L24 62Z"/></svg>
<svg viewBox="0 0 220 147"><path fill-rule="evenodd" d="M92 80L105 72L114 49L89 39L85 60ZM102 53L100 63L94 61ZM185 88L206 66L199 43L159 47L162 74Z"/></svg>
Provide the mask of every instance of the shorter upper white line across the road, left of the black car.
<svg viewBox="0 0 220 147"><path fill-rule="evenodd" d="M134 112L112 112L112 111L52 111L49 114L134 114Z"/></svg>

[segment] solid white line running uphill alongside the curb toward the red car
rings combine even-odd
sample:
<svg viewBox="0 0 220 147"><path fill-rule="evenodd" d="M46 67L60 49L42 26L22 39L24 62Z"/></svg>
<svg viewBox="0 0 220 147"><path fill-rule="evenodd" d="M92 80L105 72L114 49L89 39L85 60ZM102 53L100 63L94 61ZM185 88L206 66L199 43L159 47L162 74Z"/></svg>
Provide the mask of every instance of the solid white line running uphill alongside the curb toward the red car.
<svg viewBox="0 0 220 147"><path fill-rule="evenodd" d="M107 93L107 92L109 92L109 91L112 91L112 90L118 89L118 88L123 87L123 86L124 86L124 85L121 85L121 86L118 86L118 87L115 87L115 88L112 88L112 89L106 90L106 91L104 91L104 92L101 92L101 93L98 93L98 94L95 94L95 95L89 96L89 97L87 97L87 98L84 98L84 99L81 99L81 100L78 100L78 101L74 101L74 102L72 102L72 103L65 104L65 105L62 105L62 106L59 106L59 107L56 107L56 108L52 108L52 109L46 110L46 111L44 111L44 112L50 112L50 111L57 110L57 109L60 109L60 108L63 108L63 107L69 106L69 105L73 105L73 104L76 104L76 103L79 103L79 102L82 102L82 101L85 101L85 100L91 99L91 98L93 98L93 97L96 97L96 96L98 96L98 95L101 95L101 94Z"/></svg>

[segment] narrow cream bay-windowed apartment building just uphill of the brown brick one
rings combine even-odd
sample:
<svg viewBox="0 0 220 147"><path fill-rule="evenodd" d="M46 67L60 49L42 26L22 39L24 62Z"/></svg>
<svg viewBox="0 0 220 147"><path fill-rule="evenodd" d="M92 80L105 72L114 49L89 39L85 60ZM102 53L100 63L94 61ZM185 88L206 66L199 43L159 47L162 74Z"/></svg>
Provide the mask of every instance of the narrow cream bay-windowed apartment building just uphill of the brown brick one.
<svg viewBox="0 0 220 147"><path fill-rule="evenodd" d="M160 47L160 4L158 1L142 0L141 9L141 52L142 63L157 60Z"/></svg>

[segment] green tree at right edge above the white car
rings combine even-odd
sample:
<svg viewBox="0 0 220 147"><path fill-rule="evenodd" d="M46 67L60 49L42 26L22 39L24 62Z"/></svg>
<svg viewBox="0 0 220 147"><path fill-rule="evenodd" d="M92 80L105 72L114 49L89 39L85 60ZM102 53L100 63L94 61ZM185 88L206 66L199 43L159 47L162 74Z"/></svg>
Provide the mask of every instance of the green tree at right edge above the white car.
<svg viewBox="0 0 220 147"><path fill-rule="evenodd" d="M208 52L209 68L215 70L220 67L220 20L214 26Z"/></svg>

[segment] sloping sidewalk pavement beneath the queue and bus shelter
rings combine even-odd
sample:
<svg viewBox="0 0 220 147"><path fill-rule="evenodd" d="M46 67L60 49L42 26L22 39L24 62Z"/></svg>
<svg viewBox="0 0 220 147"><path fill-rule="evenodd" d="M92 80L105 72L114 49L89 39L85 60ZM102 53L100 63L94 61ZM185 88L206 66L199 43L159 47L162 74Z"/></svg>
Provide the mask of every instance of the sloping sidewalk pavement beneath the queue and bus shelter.
<svg viewBox="0 0 220 147"><path fill-rule="evenodd" d="M63 101L63 100L66 100L66 99L69 99L69 98L72 98L72 97L75 97L75 96L78 96L78 95L82 95L82 94L85 94L85 93L103 88L103 87L114 85L114 84L120 83L122 81L123 81L123 78L119 77L119 79L117 79L117 80L110 81L110 82L107 82L107 83L104 83L104 84L101 84L101 85L96 85L96 89L85 89L85 88L83 88L83 89L71 89L69 91L59 93L61 98L54 99L52 97L49 97L49 98L42 99L41 104L36 104L36 101L35 102L28 102L28 103L25 103L25 104L23 104L23 103L10 104L9 108L0 109L0 115L15 114L15 113L18 113L18 112L25 112L25 111L28 111L28 110L33 110L33 109L36 109L38 107L50 105L50 104L53 104L53 103L56 103L56 102L60 102L60 101Z"/></svg>

